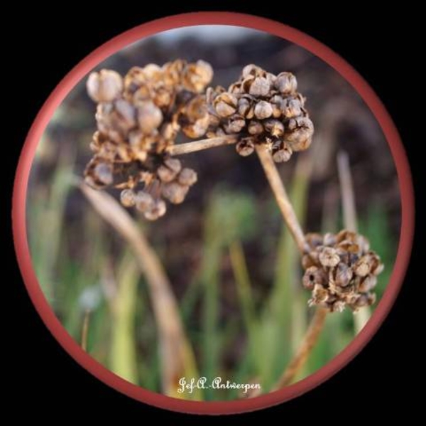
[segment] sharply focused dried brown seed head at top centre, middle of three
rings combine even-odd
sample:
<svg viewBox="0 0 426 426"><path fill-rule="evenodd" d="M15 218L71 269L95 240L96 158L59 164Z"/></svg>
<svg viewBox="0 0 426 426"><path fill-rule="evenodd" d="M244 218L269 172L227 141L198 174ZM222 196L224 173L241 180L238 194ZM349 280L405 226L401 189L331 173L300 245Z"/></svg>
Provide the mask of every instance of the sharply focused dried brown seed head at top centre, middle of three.
<svg viewBox="0 0 426 426"><path fill-rule="evenodd" d="M251 154L256 144L265 144L274 161L288 161L294 151L303 151L312 142L314 126L292 73L274 75L246 65L228 90L210 87L207 103L208 136L239 134L236 151L242 156Z"/></svg>

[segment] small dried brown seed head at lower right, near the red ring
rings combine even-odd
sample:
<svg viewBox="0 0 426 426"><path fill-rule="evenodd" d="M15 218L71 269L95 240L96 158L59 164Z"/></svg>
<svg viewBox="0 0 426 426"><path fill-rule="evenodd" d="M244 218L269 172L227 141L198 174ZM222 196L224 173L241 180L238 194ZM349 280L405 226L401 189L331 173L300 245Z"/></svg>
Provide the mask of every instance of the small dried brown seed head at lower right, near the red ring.
<svg viewBox="0 0 426 426"><path fill-rule="evenodd" d="M306 240L310 251L302 257L302 283L312 291L311 306L329 311L342 311L347 306L356 311L375 302L372 290L383 263L365 237L342 230L337 234L307 234Z"/></svg>

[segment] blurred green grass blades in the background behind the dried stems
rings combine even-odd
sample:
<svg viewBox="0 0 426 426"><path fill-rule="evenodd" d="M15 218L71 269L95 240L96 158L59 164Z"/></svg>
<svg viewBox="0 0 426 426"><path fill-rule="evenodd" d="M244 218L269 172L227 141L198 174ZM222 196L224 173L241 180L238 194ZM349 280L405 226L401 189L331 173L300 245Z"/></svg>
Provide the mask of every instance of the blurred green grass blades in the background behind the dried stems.
<svg viewBox="0 0 426 426"><path fill-rule="evenodd" d="M117 375L160 392L158 336L148 290L136 262L117 245L112 231L83 199L80 223L67 227L67 202L75 194L75 155L59 157L50 186L35 185L28 195L29 243L45 297L68 333L81 340L89 312L87 351ZM290 198L297 215L307 211L310 177L296 168ZM259 204L253 193L217 186L204 203L202 254L179 298L182 319L197 354L200 374L271 389L310 319L307 293L300 286L299 257L284 225L266 235L277 215L272 195ZM271 206L265 209L265 206ZM278 216L278 220L280 220ZM279 222L280 223L280 222ZM149 225L145 227L149 231ZM361 233L386 265L379 277L380 299L395 258L386 212L372 205L359 220ZM70 244L80 233L79 247ZM246 251L266 241L275 253L267 291L258 292L263 260L249 262ZM163 252L164 247L154 247ZM271 265L269 265L271 268ZM224 294L231 297L224 301ZM224 311L224 304L230 304ZM324 366L354 338L352 314L329 315L325 331L297 379ZM231 359L231 361L229 361ZM206 400L239 398L237 390L207 390Z"/></svg>

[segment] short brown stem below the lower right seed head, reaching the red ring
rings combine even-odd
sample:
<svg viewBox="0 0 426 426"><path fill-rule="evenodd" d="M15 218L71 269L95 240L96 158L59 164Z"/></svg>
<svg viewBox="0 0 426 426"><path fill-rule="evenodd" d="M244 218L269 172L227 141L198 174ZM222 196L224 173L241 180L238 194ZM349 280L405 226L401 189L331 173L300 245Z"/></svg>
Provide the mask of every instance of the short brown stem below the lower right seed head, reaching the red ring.
<svg viewBox="0 0 426 426"><path fill-rule="evenodd" d="M305 337L303 338L302 344L299 350L293 356L293 359L285 369L283 376L280 377L278 383L274 386L273 390L278 390L286 385L289 385L295 378L300 368L305 365L307 358L309 357L312 348L317 343L318 337L321 334L324 326L325 318L327 316L327 310L324 308L317 308L314 316L310 321L310 326L307 329Z"/></svg>

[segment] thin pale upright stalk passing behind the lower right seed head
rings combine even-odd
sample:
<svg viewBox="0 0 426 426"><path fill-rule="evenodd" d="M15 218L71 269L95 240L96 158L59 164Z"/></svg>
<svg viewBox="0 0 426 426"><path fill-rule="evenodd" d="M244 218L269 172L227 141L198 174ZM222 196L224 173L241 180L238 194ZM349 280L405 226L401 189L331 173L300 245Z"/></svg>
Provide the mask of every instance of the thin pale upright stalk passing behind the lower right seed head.
<svg viewBox="0 0 426 426"><path fill-rule="evenodd" d="M356 207L354 183L352 181L349 156L346 151L340 151L337 155L337 168L339 169L340 193L342 197L344 227L357 232ZM356 334L367 324L371 316L369 307L362 307L354 314L354 327Z"/></svg>

